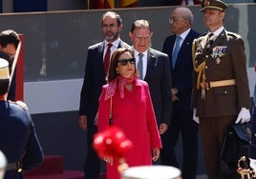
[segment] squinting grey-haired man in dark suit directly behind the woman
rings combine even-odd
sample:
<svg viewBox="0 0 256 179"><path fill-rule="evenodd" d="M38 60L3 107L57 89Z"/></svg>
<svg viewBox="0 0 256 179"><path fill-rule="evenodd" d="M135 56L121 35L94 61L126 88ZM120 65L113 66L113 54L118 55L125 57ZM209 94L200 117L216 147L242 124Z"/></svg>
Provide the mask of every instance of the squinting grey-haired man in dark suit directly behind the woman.
<svg viewBox="0 0 256 179"><path fill-rule="evenodd" d="M149 85L161 142L164 146L168 141L162 140L162 136L168 129L172 112L171 70L168 55L150 48L152 35L152 27L147 20L136 20L129 33L138 70L140 59L142 62L139 78Z"/></svg>

